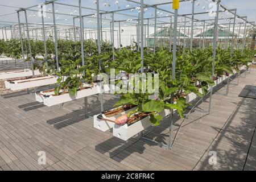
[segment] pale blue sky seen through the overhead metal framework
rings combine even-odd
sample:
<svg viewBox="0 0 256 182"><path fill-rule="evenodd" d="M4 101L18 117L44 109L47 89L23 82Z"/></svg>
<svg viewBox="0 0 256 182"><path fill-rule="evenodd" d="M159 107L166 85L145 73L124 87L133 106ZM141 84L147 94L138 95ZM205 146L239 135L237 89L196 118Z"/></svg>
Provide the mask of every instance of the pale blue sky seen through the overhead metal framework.
<svg viewBox="0 0 256 182"><path fill-rule="evenodd" d="M134 1L138 1L138 0L134 0ZM41 0L9 0L9 1L3 1L0 0L0 5L7 5L7 6L15 6L15 7L29 7L32 5L37 5L40 2L44 2ZM60 0L59 2L63 2L63 3L68 3L68 4L72 4L72 5L78 5L78 0L74 1L74 0ZM144 3L147 4L155 4L155 3L162 3L162 2L170 2L166 1L166 0L144 0ZM196 6L196 12L203 12L205 10L207 10L208 7L208 0L198 0L198 2L200 3L200 5ZM106 3L107 6L104 6L104 4ZM221 2L222 4L224 4L226 7L228 7L229 9L237 9L237 13L241 16L248 16L248 20L249 21L256 21L256 1L255 0L222 0ZM110 4L110 7L108 7L108 4ZM125 9L126 6L129 5L130 7L136 7L138 6L135 3L129 3L125 0L118 0L118 5L115 4L115 0L100 0L100 9L101 10L105 10L105 11L111 11L111 10L117 10L118 6L121 9ZM94 0L82 0L82 6L86 6L86 7L91 7L96 9L96 5L94 4ZM203 6L205 6L205 9L203 9ZM160 6L162 9L164 10L168 10L173 12L173 10L171 9L170 5L165 5L165 6ZM47 11L51 9L51 6L47 6ZM1 24L10 24L7 22L17 22L17 16L16 14L13 15L7 15L7 16L1 16L4 14L9 14L9 13L15 13L16 8L12 8L12 7L3 7L0 6L0 22ZM37 10L37 8L34 8L34 10ZM60 6L60 5L56 5L56 10L58 10L60 13L65 13L65 14L73 14L73 15L78 15L78 9L76 8L72 8L72 7L66 7L66 6ZM94 10L83 10L82 14L86 15L86 14L94 14L96 13L96 11ZM115 20L126 20L126 19L133 19L135 16L138 16L138 12L136 10L134 11L124 11L123 13L129 15L129 16L122 16L122 15L115 15ZM179 14L189 14L191 13L191 2L184 2L181 3L180 5L180 10L179 10ZM154 9L152 8L148 8L148 10L145 13L146 17L151 17L152 14L154 14ZM34 18L34 15L36 15L36 17ZM166 12L163 11L159 11L159 16L166 16L166 15L170 15ZM105 17L106 16L106 17ZM110 15L105 15L103 18L106 19L110 19ZM227 17L231 17L231 15L224 15ZM63 15L58 15L57 16L57 23L63 23L63 24L71 24L72 23L72 16L63 16ZM208 15L197 15L195 16L196 19L208 19L209 16ZM69 20L70 19L70 20ZM160 20L160 19L159 19ZM163 21L168 22L168 18L162 18ZM24 15L21 14L21 21L24 22ZM37 16L37 13L32 12L32 11L28 11L28 22L30 23L40 23L40 18ZM47 14L46 17L46 22L52 23L52 15L51 14ZM224 21L222 21L224 23ZM241 20L237 20L237 22L242 22ZM96 27L96 20L92 19L92 18L86 18L85 19L85 27ZM79 22L77 20L76 24L78 25ZM129 23L123 23L125 24L129 24ZM104 26L108 27L108 21L104 21Z"/></svg>

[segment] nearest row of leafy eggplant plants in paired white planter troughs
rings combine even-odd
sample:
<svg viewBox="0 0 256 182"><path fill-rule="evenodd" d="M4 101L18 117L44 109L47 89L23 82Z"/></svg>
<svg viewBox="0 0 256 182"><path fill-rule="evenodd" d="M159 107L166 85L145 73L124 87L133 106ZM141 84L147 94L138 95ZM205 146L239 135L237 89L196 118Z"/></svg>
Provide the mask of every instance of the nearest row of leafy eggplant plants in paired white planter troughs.
<svg viewBox="0 0 256 182"><path fill-rule="evenodd" d="M243 66L247 67L254 57L254 52L247 49L243 52L234 50L233 56L230 56L230 50L218 47L213 79L211 57L212 48L194 49L192 52L187 49L184 54L179 51L176 79L172 80L172 53L162 49L155 55L145 55L144 72L159 74L158 97L151 100L151 92L116 93L120 99L114 105L115 109L94 116L94 127L101 131L113 128L115 137L127 140L151 125L158 126L171 110L176 110L183 118L189 102L196 97L205 96L210 86L215 86ZM122 49L115 53L115 60L106 63L105 66L126 73L139 73L140 63L139 52ZM135 82L135 79L130 79L129 84L131 82ZM142 84L141 80L137 82Z"/></svg>

